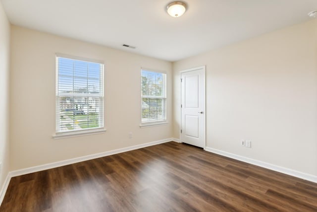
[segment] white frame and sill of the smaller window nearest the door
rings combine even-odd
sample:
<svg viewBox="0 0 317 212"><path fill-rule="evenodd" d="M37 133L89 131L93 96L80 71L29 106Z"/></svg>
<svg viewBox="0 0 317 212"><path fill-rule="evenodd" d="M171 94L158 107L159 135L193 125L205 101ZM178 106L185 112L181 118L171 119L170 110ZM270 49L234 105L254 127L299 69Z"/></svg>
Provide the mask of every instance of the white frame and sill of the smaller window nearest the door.
<svg viewBox="0 0 317 212"><path fill-rule="evenodd" d="M161 96L151 96L151 95L143 95L143 92L142 92L142 86L143 86L143 81L142 81L142 76L143 76L143 71L149 71L149 72L153 72L153 73L161 73L161 74L164 74L164 82L163 84L165 85L162 89L162 93L163 95ZM153 126L158 126L158 125L165 125L167 124L167 74L166 72L164 71L156 71L156 70L152 70L152 69L146 69L146 68L141 68L141 72L140 72L140 77L141 77L141 83L140 83L140 86L141 86L141 115L140 115L140 118L141 118L141 124L140 124L140 127L143 128L143 127L153 127ZM164 106L162 109L163 110L163 113L164 113L164 119L163 120L153 120L153 121L142 121L142 110L143 110L143 99L144 98L149 98L149 99L162 99L162 101L164 101Z"/></svg>

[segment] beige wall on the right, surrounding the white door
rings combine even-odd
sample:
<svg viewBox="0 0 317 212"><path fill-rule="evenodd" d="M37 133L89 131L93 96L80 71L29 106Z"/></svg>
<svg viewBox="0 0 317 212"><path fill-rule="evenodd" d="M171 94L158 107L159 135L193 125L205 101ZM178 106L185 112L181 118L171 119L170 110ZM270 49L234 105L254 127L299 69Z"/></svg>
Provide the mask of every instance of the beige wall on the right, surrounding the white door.
<svg viewBox="0 0 317 212"><path fill-rule="evenodd" d="M175 138L179 71L203 65L208 147L317 176L317 20L174 63Z"/></svg>

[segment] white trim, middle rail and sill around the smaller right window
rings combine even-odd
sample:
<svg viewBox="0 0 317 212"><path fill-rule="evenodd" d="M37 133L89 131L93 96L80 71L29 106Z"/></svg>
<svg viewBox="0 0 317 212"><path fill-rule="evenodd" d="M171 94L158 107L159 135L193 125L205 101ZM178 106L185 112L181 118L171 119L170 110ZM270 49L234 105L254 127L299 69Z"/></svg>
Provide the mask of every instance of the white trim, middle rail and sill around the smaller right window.
<svg viewBox="0 0 317 212"><path fill-rule="evenodd" d="M165 87L164 87L164 95L163 96L149 96L149 95L142 95L142 87L141 87L141 123L140 123L140 128L146 128L146 127L155 127L155 126L161 126L161 125L166 125L168 124L167 122L167 73L165 71L157 71L153 69L147 69L147 68L141 68L141 74L140 74L140 85L142 86L142 71L151 71L151 72L156 72L156 73L163 73L165 74ZM164 120L155 120L155 121L147 121L147 122L142 122L142 104L143 104L143 98L153 98L153 99L164 99L165 100L165 119Z"/></svg>

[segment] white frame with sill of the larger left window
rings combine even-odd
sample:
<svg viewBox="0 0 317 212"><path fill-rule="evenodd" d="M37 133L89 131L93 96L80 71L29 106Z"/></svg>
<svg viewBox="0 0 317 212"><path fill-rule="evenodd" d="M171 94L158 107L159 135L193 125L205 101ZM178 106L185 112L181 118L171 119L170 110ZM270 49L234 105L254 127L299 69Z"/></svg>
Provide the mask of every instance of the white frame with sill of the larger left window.
<svg viewBox="0 0 317 212"><path fill-rule="evenodd" d="M100 70L100 92L99 94L95 93L59 93L58 85L59 85L59 70L58 70L58 59L65 58L73 61L82 61L88 63L95 63L102 65L102 69ZM94 60L76 56L70 56L65 54L56 53L55 54L55 135L53 135L54 139L62 139L68 137L77 137L77 136L86 136L86 135L94 135L106 132L105 129L105 63L101 60ZM66 94L66 95L65 95ZM75 129L69 131L60 131L60 99L59 97L69 96L70 98L99 98L98 108L101 110L99 113L98 121L99 127L89 128L89 129Z"/></svg>

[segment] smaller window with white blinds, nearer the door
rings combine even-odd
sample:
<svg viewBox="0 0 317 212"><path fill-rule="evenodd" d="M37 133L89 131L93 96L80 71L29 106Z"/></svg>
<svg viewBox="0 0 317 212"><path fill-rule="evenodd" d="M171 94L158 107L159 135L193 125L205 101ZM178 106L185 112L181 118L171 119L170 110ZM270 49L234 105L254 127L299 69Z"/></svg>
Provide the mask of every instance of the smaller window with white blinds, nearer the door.
<svg viewBox="0 0 317 212"><path fill-rule="evenodd" d="M141 125L166 123L166 73L141 71Z"/></svg>

